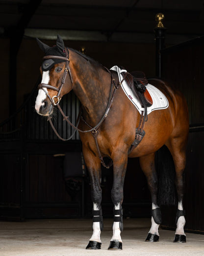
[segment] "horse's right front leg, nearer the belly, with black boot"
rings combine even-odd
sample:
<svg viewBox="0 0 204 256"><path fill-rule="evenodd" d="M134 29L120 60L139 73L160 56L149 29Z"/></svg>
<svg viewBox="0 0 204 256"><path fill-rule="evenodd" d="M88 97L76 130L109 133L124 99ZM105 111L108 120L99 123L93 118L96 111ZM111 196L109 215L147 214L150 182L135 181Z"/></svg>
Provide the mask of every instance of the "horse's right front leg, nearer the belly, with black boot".
<svg viewBox="0 0 204 256"><path fill-rule="evenodd" d="M122 250L121 231L123 231L123 186L127 168L128 156L117 156L113 158L113 187L111 199L114 204L113 236L110 240L108 250Z"/></svg>

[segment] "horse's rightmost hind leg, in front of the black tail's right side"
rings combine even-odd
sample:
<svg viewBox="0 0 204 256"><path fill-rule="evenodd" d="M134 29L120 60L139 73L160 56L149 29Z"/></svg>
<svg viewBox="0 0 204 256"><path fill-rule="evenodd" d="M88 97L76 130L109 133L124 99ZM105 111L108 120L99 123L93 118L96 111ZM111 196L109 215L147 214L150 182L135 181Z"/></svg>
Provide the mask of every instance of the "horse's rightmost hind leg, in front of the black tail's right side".
<svg viewBox="0 0 204 256"><path fill-rule="evenodd" d="M174 242L176 243L185 243L186 235L184 233L184 225L185 225L185 212L183 209L183 193L184 193L184 168L186 162L185 155L185 140L181 138L173 138L171 141L167 143L167 147L169 148L176 170L176 187L178 194L178 209L176 216L176 232Z"/></svg>

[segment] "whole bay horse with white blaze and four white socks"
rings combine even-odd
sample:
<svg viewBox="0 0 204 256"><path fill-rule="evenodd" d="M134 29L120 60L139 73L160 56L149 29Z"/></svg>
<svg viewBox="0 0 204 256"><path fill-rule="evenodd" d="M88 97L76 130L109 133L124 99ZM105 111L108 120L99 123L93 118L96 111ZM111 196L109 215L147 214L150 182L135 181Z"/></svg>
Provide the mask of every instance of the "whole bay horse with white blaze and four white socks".
<svg viewBox="0 0 204 256"><path fill-rule="evenodd" d="M74 49L66 48L59 35L56 45L52 47L39 39L37 41L46 56L40 68L42 82L35 102L36 112L50 117L53 107L55 105L59 107L61 97L71 90L74 91L82 106L77 129L90 175L93 201L93 234L86 249L101 249L102 244L100 235L102 231L101 163L105 164L103 157L108 157L113 162L111 199L114 205L114 222L108 249L122 250L123 186L128 157L139 158L151 193L152 226L146 241L159 240L158 227L161 224L161 212L157 198L158 178L155 153L163 145L169 149L176 171L178 210L174 242L186 242L182 200L189 124L184 97L163 80L149 80L150 84L166 96L169 106L148 115L148 121L144 125L146 134L140 144L130 151L135 139L135 128L138 127L141 115L122 90L117 73Z"/></svg>

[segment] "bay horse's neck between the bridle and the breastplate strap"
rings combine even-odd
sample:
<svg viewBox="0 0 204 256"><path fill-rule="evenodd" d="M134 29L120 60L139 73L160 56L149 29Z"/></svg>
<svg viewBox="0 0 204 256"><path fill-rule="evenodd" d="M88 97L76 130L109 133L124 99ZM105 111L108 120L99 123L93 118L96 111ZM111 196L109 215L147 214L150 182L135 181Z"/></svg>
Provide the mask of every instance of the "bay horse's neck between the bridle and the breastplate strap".
<svg viewBox="0 0 204 256"><path fill-rule="evenodd" d="M71 61L72 62L72 61ZM92 126L105 112L111 86L111 76L100 64L77 56L73 91L82 104L84 119Z"/></svg>

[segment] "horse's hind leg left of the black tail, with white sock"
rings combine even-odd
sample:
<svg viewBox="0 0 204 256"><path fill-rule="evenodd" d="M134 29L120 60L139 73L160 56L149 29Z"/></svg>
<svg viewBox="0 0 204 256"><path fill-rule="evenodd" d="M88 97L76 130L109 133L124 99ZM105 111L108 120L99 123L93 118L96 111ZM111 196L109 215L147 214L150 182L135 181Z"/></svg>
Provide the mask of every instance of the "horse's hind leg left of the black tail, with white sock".
<svg viewBox="0 0 204 256"><path fill-rule="evenodd" d="M146 242L157 242L159 240L158 228L161 224L161 211L157 205L157 174L154 162L155 153L148 156L140 157L140 166L147 178L149 190L152 198L152 218L151 228L146 238Z"/></svg>

